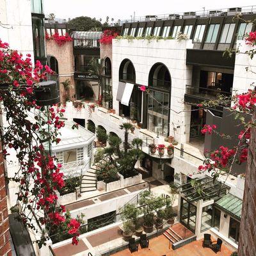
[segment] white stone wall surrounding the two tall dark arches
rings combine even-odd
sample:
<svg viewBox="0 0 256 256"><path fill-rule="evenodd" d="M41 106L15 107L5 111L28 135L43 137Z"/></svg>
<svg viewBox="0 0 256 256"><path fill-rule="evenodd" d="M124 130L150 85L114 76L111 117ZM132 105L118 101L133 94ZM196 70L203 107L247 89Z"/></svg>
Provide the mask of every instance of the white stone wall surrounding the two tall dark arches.
<svg viewBox="0 0 256 256"><path fill-rule="evenodd" d="M113 108L118 113L119 102L116 100L119 81L120 63L128 58L132 61L136 72L136 83L148 86L150 69L157 62L168 68L172 79L171 109L174 111L189 110L184 104L186 84L191 84L191 67L186 66L186 49L192 48L191 40L177 42L177 40L113 40ZM170 111L170 135L174 135L179 142L189 141L190 112L175 113ZM180 126L179 128L177 128Z"/></svg>

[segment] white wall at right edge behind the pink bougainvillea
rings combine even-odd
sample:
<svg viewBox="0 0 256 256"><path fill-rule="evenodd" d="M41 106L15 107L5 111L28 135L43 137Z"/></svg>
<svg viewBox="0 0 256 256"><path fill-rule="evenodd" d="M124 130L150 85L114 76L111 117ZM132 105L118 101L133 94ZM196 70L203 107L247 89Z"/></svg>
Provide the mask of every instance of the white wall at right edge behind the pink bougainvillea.
<svg viewBox="0 0 256 256"><path fill-rule="evenodd" d="M256 58L254 57L251 60L248 54L244 54L244 52L253 49L251 45L246 45L243 40L239 40L237 45L239 45L239 51L241 53L236 54L233 90L243 93L247 92L249 88L256 86ZM248 71L246 71L246 67L248 67ZM233 94L235 93L234 91Z"/></svg>

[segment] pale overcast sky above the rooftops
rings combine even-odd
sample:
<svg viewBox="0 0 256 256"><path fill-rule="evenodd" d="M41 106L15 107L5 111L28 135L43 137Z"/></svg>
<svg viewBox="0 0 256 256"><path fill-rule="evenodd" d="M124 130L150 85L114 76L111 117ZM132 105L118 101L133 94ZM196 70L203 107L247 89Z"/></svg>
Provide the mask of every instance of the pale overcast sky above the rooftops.
<svg viewBox="0 0 256 256"><path fill-rule="evenodd" d="M54 13L56 18L68 19L79 16L95 17L106 20L106 17L115 20L131 19L131 15L157 15L164 13L189 12L198 10L214 10L237 6L252 6L253 0L44 0L45 14Z"/></svg>

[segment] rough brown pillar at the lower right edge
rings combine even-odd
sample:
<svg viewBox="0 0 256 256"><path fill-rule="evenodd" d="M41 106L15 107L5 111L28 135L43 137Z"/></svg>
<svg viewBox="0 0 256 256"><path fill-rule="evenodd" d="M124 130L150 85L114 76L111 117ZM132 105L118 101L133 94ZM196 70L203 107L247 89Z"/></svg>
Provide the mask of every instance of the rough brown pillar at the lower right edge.
<svg viewBox="0 0 256 256"><path fill-rule="evenodd" d="M256 114L253 116L254 120ZM256 129L251 132L244 184L243 210L239 236L239 256L256 255Z"/></svg>

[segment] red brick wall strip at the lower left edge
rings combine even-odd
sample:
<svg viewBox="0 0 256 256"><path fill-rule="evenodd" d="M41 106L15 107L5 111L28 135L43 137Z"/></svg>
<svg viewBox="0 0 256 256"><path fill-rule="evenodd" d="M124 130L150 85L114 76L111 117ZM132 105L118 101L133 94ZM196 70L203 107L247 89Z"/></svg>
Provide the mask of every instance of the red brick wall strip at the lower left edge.
<svg viewBox="0 0 256 256"><path fill-rule="evenodd" d="M4 178L4 161L0 143L0 255L12 255L7 209L7 195Z"/></svg>

